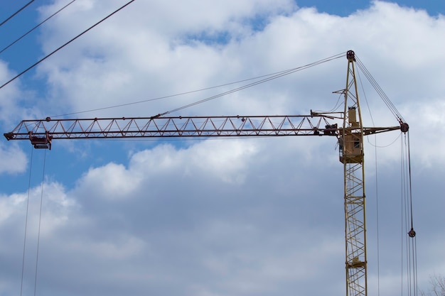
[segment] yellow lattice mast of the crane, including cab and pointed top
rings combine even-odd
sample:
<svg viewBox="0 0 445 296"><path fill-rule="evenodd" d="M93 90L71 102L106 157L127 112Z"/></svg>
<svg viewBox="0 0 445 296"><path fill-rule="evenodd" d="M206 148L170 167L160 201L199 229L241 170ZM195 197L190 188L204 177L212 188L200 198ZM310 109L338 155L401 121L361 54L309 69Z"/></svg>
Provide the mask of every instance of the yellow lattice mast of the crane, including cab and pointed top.
<svg viewBox="0 0 445 296"><path fill-rule="evenodd" d="M346 295L368 294L365 217L365 168L358 87L355 80L355 56L348 51L348 73L344 89L345 109L341 136L340 161L345 187L345 270Z"/></svg>

